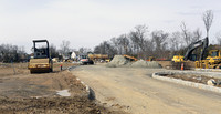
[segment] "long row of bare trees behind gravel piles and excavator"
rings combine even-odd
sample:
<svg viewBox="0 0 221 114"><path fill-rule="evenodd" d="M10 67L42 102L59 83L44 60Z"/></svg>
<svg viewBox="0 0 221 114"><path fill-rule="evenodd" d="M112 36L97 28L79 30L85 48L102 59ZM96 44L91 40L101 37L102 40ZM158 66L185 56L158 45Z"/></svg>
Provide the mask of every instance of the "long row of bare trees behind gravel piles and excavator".
<svg viewBox="0 0 221 114"><path fill-rule="evenodd" d="M209 30L213 21L213 12L206 11L202 14L202 21L209 37ZM158 59L171 59L175 54L183 55L186 48L192 42L202 39L202 31L199 28L194 30L188 29L185 22L180 24L180 31L172 33L162 30L149 31L148 25L136 25L134 30L126 34L112 38L96 45L94 53L109 54L128 54L138 59L148 59L155 56ZM221 37L217 37L218 42L221 43ZM196 53L199 53L197 50Z"/></svg>

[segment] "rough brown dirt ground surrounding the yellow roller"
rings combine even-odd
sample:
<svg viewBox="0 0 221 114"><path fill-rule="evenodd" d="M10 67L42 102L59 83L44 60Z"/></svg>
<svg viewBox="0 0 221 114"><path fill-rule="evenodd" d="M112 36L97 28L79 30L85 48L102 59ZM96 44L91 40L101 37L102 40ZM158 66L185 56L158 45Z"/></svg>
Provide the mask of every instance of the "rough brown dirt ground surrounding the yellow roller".
<svg viewBox="0 0 221 114"><path fill-rule="evenodd" d="M63 68L73 64L63 64ZM1 114L124 114L88 100L85 86L67 71L60 72L54 64L53 73L30 74L25 63L1 64ZM14 74L15 71L15 74ZM71 96L60 96L56 91L69 90Z"/></svg>

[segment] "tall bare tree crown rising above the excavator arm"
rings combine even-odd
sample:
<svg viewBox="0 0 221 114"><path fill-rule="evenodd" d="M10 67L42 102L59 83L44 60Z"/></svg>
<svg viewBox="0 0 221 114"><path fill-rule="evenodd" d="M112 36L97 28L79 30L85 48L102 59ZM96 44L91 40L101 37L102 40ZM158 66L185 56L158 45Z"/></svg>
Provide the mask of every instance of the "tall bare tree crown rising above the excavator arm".
<svg viewBox="0 0 221 114"><path fill-rule="evenodd" d="M207 30L207 37L209 38L209 30L210 30L210 27L212 25L212 21L213 21L212 10L207 10L202 15L202 20L204 22L204 27Z"/></svg>

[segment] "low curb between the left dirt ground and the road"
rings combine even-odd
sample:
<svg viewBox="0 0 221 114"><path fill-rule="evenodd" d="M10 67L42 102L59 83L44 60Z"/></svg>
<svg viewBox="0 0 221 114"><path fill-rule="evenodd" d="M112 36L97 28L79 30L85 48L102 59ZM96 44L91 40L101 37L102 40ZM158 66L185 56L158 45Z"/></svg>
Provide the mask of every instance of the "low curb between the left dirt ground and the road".
<svg viewBox="0 0 221 114"><path fill-rule="evenodd" d="M71 73L70 70L72 70L72 69L74 69L74 68L70 66L70 68L67 68L67 71ZM87 84L85 84L83 81L81 81L78 77L76 77L76 80L80 81L86 87L87 97L90 100L95 100L95 92Z"/></svg>

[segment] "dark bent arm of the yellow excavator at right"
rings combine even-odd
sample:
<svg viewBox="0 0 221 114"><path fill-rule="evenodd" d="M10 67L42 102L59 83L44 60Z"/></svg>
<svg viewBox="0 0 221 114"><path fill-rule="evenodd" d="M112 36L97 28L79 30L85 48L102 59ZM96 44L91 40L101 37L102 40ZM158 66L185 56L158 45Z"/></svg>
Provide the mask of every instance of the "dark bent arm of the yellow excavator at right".
<svg viewBox="0 0 221 114"><path fill-rule="evenodd" d="M201 45L202 45L202 50L201 50L201 53L200 53L200 60L202 60L203 55L204 55L204 52L206 52L206 49L208 48L208 44L209 44L208 37L202 39L202 40L199 40L197 42L191 43L188 46L188 50L187 50L187 52L185 54L183 60L185 61L190 60L192 51L194 51L197 48L199 48Z"/></svg>

